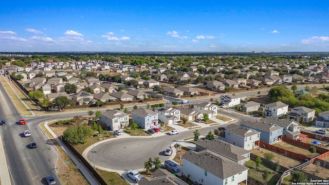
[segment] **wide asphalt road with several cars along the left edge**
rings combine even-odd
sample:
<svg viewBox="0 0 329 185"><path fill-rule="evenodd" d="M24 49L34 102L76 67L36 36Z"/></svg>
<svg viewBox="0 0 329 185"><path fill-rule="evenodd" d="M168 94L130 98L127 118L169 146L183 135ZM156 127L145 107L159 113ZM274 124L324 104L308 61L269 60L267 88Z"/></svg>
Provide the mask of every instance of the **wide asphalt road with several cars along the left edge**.
<svg viewBox="0 0 329 185"><path fill-rule="evenodd" d="M7 122L0 126L0 134L12 184L46 184L46 175L56 175L58 153L39 129L37 121L27 120L26 125L19 125L18 121L23 117L1 83L0 100L0 119ZM25 138L22 135L25 130L31 132L30 137ZM36 142L38 147L29 149L31 142ZM58 177L57 181L61 184Z"/></svg>

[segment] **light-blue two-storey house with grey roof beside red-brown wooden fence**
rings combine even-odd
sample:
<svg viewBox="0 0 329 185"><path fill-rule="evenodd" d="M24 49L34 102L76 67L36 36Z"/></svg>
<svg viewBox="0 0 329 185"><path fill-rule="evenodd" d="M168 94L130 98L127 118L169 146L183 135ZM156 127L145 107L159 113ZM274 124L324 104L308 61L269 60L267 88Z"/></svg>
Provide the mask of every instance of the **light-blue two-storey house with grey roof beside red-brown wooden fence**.
<svg viewBox="0 0 329 185"><path fill-rule="evenodd" d="M260 141L267 144L275 144L277 141L281 141L283 134L283 127L277 124L268 123L266 121L243 121L242 126L251 128L254 131L261 133Z"/></svg>

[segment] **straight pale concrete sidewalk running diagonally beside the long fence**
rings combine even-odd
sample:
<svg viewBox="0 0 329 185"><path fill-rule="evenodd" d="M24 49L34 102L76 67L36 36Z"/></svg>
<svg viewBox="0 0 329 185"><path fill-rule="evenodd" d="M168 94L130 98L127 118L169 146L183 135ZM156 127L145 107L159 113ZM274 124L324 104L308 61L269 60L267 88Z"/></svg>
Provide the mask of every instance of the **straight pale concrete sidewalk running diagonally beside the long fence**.
<svg viewBox="0 0 329 185"><path fill-rule="evenodd" d="M56 141L59 143L59 145L62 147L62 149L65 151L65 153L71 158L71 160L77 165L77 168L81 171L83 176L87 179L87 181L92 185L98 185L97 181L94 179L92 175L89 174L89 171L84 167L83 164L81 164L76 157L67 149L65 144L56 136L55 133L52 132L52 130L48 126L48 122L44 123L46 129L49 131L49 133L52 135L53 138L56 139Z"/></svg>

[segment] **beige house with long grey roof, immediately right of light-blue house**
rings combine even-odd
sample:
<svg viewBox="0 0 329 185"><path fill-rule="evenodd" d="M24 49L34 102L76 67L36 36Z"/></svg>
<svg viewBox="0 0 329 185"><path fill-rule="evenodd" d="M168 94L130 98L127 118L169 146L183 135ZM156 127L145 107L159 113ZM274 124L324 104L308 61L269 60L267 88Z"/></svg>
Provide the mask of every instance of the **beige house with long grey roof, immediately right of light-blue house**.
<svg viewBox="0 0 329 185"><path fill-rule="evenodd" d="M289 119L277 119L277 118L262 118L261 121L266 123L272 123L283 127L283 136L290 139L299 139L300 129L298 128L298 122Z"/></svg>

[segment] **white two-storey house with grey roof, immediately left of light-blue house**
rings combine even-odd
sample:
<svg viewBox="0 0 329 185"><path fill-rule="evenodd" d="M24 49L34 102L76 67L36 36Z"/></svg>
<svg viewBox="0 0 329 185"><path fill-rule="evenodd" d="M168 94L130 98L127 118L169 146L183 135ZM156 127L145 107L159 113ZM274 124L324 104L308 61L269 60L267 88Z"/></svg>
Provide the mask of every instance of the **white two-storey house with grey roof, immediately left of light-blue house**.
<svg viewBox="0 0 329 185"><path fill-rule="evenodd" d="M245 150L252 150L259 147L260 135L260 132L251 128L230 124L226 127L226 131L218 137L218 140L226 141Z"/></svg>

